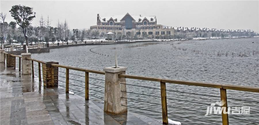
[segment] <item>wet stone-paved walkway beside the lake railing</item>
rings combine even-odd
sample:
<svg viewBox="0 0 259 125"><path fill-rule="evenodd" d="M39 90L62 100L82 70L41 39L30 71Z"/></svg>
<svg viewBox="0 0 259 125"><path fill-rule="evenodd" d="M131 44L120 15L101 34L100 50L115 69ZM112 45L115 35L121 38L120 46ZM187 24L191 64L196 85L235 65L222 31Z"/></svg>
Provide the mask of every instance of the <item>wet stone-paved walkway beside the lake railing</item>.
<svg viewBox="0 0 259 125"><path fill-rule="evenodd" d="M103 104L86 101L63 88L43 88L31 75L18 69L0 67L0 124L162 124L161 120L132 112L111 115Z"/></svg>

